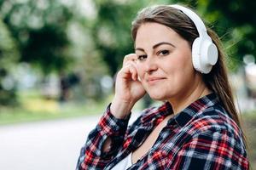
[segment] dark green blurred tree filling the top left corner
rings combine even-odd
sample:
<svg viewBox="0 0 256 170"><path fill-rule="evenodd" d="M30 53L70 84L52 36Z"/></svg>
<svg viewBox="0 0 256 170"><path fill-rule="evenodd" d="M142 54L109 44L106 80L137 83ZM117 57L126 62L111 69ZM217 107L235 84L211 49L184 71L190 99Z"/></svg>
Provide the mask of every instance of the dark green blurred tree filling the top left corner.
<svg viewBox="0 0 256 170"><path fill-rule="evenodd" d="M60 1L3 1L3 22L20 50L20 62L37 66L44 75L61 72L72 61L66 29L73 19L70 8Z"/></svg>

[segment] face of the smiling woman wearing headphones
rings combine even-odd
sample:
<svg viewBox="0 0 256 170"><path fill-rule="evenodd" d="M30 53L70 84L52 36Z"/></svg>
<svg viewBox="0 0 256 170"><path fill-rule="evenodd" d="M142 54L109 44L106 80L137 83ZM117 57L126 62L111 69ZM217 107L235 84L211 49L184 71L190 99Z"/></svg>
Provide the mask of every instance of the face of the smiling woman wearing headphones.
<svg viewBox="0 0 256 170"><path fill-rule="evenodd" d="M171 28L143 24L137 31L135 48L137 73L152 99L182 97L195 84L198 73L192 65L189 42Z"/></svg>

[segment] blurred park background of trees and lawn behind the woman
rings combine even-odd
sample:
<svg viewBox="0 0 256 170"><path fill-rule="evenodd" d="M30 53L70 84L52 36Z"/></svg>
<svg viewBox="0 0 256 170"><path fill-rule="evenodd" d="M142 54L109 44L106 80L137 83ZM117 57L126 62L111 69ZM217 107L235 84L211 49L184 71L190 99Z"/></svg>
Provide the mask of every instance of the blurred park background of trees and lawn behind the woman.
<svg viewBox="0 0 256 170"><path fill-rule="evenodd" d="M1 128L19 124L100 116L113 97L123 57L134 52L130 29L137 11L171 3L195 8L221 38L249 158L256 167L252 0L0 0L0 134ZM135 110L152 103L146 96ZM69 161L75 165L76 160ZM67 161L61 163L65 167Z"/></svg>

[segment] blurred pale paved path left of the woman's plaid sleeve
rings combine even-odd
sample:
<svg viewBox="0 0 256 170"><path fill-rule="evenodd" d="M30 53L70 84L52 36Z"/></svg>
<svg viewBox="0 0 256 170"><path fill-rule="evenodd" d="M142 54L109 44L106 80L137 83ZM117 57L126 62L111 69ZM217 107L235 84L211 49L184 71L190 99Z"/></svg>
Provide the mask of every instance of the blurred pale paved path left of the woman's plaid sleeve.
<svg viewBox="0 0 256 170"><path fill-rule="evenodd" d="M72 170L99 116L0 126L0 169Z"/></svg>

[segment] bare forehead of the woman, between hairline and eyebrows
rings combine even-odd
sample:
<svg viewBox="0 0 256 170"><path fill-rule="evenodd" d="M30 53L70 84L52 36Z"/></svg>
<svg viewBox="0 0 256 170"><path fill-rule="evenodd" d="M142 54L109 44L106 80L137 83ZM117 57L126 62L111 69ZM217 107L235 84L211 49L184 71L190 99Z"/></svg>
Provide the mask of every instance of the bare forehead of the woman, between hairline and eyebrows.
<svg viewBox="0 0 256 170"><path fill-rule="evenodd" d="M182 38L172 28L148 22L139 27L135 47L153 46L159 42L180 42Z"/></svg>

